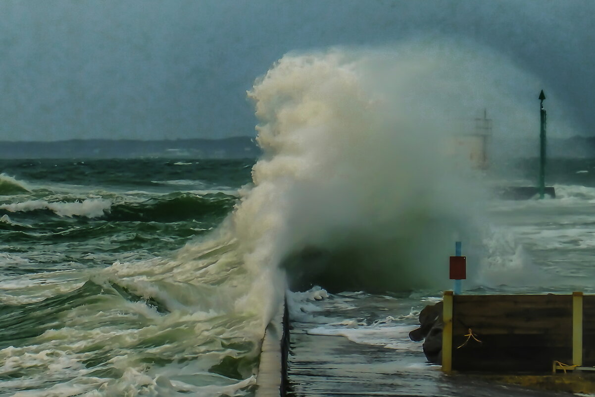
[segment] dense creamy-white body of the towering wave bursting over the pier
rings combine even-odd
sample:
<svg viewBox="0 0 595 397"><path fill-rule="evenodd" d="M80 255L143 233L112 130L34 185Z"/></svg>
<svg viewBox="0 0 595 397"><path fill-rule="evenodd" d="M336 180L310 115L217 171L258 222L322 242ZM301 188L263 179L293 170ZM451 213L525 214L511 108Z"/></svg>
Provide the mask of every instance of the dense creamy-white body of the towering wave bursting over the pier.
<svg viewBox="0 0 595 397"><path fill-rule="evenodd" d="M432 68L406 67L395 80L399 62L397 53L287 55L250 91L265 156L234 221L241 241L253 238L243 230L262 230L255 246L271 250L260 260L285 260L300 282L333 290L446 280L444 258L477 193L443 150L455 133L441 125L446 109L419 102Z"/></svg>

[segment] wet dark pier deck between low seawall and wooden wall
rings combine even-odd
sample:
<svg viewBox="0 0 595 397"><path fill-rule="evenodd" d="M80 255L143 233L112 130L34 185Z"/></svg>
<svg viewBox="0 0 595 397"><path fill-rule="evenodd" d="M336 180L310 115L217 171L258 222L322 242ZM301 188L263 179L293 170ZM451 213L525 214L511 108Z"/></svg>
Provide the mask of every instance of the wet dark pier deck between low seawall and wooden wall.
<svg viewBox="0 0 595 397"><path fill-rule="evenodd" d="M320 333L320 324L290 322L288 396L568 396L446 376L425 364L421 348L387 348ZM400 336L402 339L402 335ZM397 344L399 340L395 341ZM393 345L394 347L394 345Z"/></svg>

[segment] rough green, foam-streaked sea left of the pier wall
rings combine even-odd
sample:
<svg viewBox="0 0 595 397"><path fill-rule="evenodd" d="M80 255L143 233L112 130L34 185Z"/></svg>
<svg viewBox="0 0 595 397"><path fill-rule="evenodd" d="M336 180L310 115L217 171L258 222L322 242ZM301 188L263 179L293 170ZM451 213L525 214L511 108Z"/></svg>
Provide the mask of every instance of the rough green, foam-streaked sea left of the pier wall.
<svg viewBox="0 0 595 397"><path fill-rule="evenodd" d="M253 162L1 162L0 394L249 389L261 320L215 229Z"/></svg>

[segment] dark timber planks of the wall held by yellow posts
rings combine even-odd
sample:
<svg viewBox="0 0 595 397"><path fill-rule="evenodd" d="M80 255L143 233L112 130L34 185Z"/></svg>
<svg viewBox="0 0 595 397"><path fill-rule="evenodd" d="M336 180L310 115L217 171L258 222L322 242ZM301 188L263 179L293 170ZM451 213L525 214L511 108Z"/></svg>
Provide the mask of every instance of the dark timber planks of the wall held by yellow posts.
<svg viewBox="0 0 595 397"><path fill-rule="evenodd" d="M588 298L584 364L595 365L595 296ZM571 364L571 295L457 295L452 319L455 371L538 373L555 360ZM465 336L469 328L481 343Z"/></svg>

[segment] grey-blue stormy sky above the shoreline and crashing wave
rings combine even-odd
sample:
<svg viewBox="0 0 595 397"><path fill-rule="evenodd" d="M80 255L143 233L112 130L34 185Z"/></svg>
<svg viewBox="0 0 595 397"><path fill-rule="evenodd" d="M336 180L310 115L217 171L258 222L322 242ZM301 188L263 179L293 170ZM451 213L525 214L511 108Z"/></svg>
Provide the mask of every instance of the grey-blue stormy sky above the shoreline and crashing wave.
<svg viewBox="0 0 595 397"><path fill-rule="evenodd" d="M2 0L0 140L253 135L246 90L286 52L418 35L502 52L591 135L594 15L591 0Z"/></svg>

